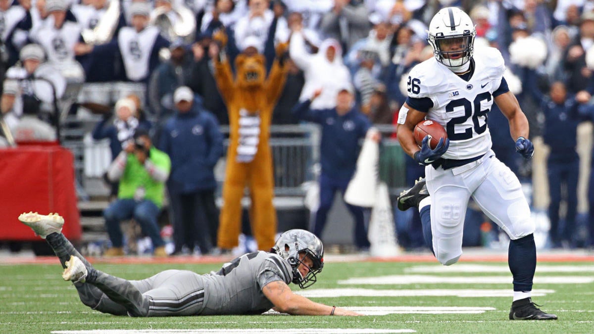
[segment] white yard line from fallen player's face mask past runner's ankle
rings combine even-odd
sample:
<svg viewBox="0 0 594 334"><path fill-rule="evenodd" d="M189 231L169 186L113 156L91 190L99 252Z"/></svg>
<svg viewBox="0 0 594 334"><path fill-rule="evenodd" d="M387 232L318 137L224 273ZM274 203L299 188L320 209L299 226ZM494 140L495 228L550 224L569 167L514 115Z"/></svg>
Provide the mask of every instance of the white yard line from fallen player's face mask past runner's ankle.
<svg viewBox="0 0 594 334"><path fill-rule="evenodd" d="M552 294L555 290L532 290L532 297ZM513 297L511 289L311 289L295 291L308 298L331 297L421 297L421 296L456 296L456 297Z"/></svg>

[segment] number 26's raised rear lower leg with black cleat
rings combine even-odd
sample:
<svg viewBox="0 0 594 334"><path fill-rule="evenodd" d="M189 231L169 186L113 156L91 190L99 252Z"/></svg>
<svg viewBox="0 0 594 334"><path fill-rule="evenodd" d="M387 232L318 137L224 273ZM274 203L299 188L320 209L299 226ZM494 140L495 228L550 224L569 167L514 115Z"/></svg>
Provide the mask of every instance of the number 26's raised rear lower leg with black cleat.
<svg viewBox="0 0 594 334"><path fill-rule="evenodd" d="M416 207L419 210L425 244L429 247L431 253L435 254L433 251L433 235L431 233L431 199L425 178L419 178L415 181L415 185L412 188L402 191L396 201L398 209L401 211L406 211L411 207Z"/></svg>

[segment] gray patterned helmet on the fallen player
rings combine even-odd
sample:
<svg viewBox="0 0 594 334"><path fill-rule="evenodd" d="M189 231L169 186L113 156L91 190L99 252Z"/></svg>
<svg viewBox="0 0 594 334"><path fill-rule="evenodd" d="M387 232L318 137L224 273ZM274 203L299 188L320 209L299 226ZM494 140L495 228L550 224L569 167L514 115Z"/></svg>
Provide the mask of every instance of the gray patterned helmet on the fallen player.
<svg viewBox="0 0 594 334"><path fill-rule="evenodd" d="M321 272L324 267L324 245L318 237L304 229L290 229L283 232L274 243L271 252L289 262L293 269L293 283L302 289L315 283L317 281L315 275ZM305 253L314 262L312 267L308 267L309 272L305 277L301 276L298 270L299 264L307 267L299 259L301 253Z"/></svg>

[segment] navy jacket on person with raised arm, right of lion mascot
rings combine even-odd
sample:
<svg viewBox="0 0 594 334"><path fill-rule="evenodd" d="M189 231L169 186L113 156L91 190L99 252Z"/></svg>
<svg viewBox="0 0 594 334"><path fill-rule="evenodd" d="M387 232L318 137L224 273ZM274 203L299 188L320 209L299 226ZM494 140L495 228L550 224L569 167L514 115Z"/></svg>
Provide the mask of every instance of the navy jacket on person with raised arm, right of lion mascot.
<svg viewBox="0 0 594 334"><path fill-rule="evenodd" d="M305 100L293 108L298 118L315 122L322 126L320 143L320 163L322 173L333 179L350 179L355 172L359 156L359 140L365 137L371 122L365 115L351 109L339 116L336 108L309 109L310 100Z"/></svg>

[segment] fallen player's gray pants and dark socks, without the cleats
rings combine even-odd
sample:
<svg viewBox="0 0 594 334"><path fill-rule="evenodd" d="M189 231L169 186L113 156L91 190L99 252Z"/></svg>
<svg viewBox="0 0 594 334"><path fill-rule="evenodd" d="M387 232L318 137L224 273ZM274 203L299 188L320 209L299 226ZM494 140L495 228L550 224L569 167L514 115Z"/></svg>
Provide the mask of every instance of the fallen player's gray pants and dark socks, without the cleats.
<svg viewBox="0 0 594 334"><path fill-rule="evenodd" d="M116 316L193 316L204 308L203 278L188 270L165 270L141 281L100 272L75 250L62 234L46 238L62 267L74 255L81 259L89 275L86 283L74 283L83 304Z"/></svg>

